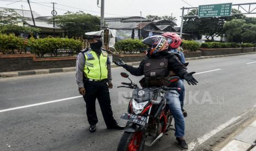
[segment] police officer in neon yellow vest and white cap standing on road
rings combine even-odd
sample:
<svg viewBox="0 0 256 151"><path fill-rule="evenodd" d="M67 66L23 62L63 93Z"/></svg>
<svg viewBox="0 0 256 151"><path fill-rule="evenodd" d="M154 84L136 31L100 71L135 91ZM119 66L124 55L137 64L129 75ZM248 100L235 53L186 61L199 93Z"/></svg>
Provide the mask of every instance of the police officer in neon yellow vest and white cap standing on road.
<svg viewBox="0 0 256 151"><path fill-rule="evenodd" d="M79 93L83 95L86 103L86 114L90 124L89 131L96 131L98 122L95 101L99 101L101 112L107 129L122 130L113 118L110 92L112 89L110 59L107 52L102 49L102 31L87 32L90 48L81 50L77 57L76 80Z"/></svg>

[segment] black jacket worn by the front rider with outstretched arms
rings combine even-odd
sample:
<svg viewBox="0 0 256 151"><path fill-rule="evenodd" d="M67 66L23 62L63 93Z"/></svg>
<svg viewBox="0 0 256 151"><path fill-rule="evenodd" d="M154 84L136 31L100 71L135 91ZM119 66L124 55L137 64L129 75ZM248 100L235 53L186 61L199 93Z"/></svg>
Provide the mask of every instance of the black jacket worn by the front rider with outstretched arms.
<svg viewBox="0 0 256 151"><path fill-rule="evenodd" d="M130 72L130 74L135 76L141 76L144 75L144 64L145 60L151 59L151 58L166 58L168 60L168 70L174 71L176 75L180 78L183 78L183 75L188 73L187 67L184 66L181 61L179 61L178 57L175 54L168 53L167 51L163 51L161 53L157 53L154 56L146 57L140 62L140 65L138 68L135 68L133 66L125 65L124 68L127 69L127 71Z"/></svg>

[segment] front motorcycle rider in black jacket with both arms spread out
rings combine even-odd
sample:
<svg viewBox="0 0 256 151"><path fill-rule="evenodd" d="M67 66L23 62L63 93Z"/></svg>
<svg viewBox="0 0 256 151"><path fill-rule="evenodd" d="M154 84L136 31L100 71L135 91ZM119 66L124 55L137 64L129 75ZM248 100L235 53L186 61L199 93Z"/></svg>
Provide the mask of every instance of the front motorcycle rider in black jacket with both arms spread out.
<svg viewBox="0 0 256 151"><path fill-rule="evenodd" d="M173 70L178 77L186 79L188 84L196 85L198 82L192 74L188 73L186 66L179 61L176 55L168 53L168 42L163 36L151 36L145 38L143 41L149 46L148 56L140 62L138 68L129 66L121 59L118 62L113 61L117 66L124 67L127 71L135 76L144 75L144 87L163 86L170 78L170 71ZM183 150L188 149L188 145L184 140L185 135L185 121L181 110L181 103L176 99L172 99L171 92L166 94L167 104L171 110L173 118L175 119L175 135L179 147Z"/></svg>

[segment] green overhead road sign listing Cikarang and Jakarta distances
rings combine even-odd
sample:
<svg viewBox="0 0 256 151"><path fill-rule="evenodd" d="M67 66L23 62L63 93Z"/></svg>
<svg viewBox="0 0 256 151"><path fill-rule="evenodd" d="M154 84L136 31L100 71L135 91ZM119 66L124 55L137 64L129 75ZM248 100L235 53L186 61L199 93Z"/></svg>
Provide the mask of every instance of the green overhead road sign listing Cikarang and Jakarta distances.
<svg viewBox="0 0 256 151"><path fill-rule="evenodd" d="M232 3L213 4L213 5L199 5L198 17L208 18L216 16L230 16Z"/></svg>

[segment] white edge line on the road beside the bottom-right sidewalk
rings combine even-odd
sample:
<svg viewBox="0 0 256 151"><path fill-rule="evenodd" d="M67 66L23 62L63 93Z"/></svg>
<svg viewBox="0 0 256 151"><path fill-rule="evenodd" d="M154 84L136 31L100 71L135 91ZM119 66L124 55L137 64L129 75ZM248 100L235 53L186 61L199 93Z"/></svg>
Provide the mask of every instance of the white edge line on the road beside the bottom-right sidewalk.
<svg viewBox="0 0 256 151"><path fill-rule="evenodd" d="M217 132L225 129L227 126L229 126L230 124L232 124L234 121L236 121L237 119L239 119L241 116L239 117L235 117L232 118L230 120L228 120L226 123L221 124L219 127L217 127L216 129L210 131L209 133L206 133L204 136L201 136L199 138L197 138L197 143L195 142L190 142L188 144L188 150L193 150L195 148L196 144L201 144L203 142L205 142L206 140L208 140L211 136L214 136Z"/></svg>

